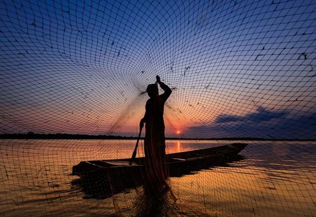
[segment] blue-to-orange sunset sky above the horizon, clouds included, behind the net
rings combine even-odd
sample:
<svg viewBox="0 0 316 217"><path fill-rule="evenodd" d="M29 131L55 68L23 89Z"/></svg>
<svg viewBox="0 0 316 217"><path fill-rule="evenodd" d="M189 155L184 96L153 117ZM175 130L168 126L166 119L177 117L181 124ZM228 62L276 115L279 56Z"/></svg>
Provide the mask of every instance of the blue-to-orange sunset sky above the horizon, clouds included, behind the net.
<svg viewBox="0 0 316 217"><path fill-rule="evenodd" d="M0 2L0 133L316 139L316 2ZM162 93L160 89L160 93Z"/></svg>

